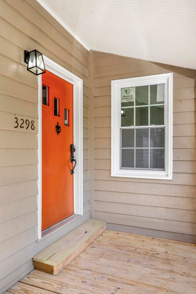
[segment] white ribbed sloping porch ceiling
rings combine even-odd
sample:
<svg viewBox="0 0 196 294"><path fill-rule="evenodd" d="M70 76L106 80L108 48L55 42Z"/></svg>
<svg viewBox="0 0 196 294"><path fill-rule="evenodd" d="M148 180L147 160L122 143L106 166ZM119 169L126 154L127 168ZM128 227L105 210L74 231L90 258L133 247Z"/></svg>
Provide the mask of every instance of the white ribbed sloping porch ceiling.
<svg viewBox="0 0 196 294"><path fill-rule="evenodd" d="M87 49L196 69L195 0L37 0Z"/></svg>

